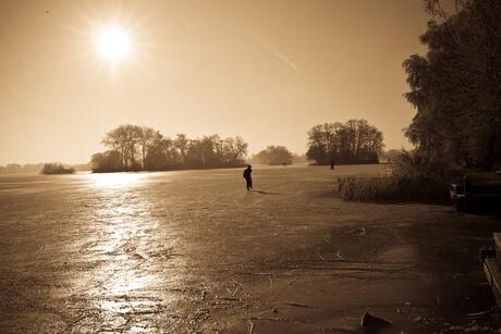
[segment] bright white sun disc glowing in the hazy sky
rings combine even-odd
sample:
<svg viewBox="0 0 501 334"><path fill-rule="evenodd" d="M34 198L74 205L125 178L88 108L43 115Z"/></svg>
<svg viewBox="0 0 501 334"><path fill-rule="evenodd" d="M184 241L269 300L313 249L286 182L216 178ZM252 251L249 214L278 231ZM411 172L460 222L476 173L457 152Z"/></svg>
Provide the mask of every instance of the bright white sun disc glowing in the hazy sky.
<svg viewBox="0 0 501 334"><path fill-rule="evenodd" d="M99 30L97 34L97 51L102 58L111 62L126 58L131 53L131 41L127 32L117 26Z"/></svg>

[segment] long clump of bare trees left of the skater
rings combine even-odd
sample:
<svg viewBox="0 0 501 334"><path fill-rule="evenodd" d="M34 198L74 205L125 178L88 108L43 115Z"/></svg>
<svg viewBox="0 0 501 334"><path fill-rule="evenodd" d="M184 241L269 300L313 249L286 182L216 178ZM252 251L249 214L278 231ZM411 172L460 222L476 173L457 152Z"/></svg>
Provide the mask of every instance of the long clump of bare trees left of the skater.
<svg viewBox="0 0 501 334"><path fill-rule="evenodd" d="M172 139L151 127L131 124L108 132L102 144L109 150L91 157L94 172L241 166L247 153L247 143L240 137L190 139L178 134Z"/></svg>

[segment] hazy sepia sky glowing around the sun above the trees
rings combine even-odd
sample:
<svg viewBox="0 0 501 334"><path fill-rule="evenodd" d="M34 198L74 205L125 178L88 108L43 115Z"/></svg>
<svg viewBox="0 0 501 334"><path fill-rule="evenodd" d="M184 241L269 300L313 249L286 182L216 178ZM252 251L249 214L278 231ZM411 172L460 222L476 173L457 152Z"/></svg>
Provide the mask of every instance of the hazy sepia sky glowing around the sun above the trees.
<svg viewBox="0 0 501 334"><path fill-rule="evenodd" d="M421 0L0 0L0 164L86 162L123 123L304 152L313 125L363 117L408 147L427 21ZM109 26L131 36L114 65Z"/></svg>

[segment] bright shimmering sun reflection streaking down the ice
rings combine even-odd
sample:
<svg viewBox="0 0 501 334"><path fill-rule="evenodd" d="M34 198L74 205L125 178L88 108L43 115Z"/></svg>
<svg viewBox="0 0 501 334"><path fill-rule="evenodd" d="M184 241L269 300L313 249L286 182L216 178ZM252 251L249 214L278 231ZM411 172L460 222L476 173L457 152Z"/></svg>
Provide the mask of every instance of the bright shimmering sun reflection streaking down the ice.
<svg viewBox="0 0 501 334"><path fill-rule="evenodd" d="M183 274L170 272L173 261L185 267L171 256L175 238L163 214L169 209L164 202L158 208L152 201L149 173L88 177L87 185L95 189L95 210L89 224L93 233L81 240L83 260L94 263L87 272L93 280L86 294L107 327L155 332L152 314L166 312L180 298L175 290Z"/></svg>

